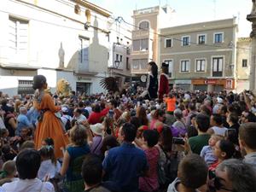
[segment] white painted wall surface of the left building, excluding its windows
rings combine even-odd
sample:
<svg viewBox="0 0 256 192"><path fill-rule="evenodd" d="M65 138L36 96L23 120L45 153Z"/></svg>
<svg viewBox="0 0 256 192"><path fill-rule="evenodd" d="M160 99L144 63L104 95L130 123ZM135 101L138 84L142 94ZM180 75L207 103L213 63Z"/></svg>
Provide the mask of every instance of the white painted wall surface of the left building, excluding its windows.
<svg viewBox="0 0 256 192"><path fill-rule="evenodd" d="M92 80L91 92L101 92L99 80L106 77L108 73L108 49L109 42L105 32L95 30L90 27L84 30L86 17L84 8L81 7L81 15L74 14L74 3L68 0L26 0L28 3L37 2L43 10L26 3L13 0L1 0L0 6L0 65L14 65L10 63L14 55L9 54L9 15L29 21L28 28L28 54L27 63L24 66L39 67L38 74L43 74L48 81L52 91L55 90L57 79L64 78L69 81L73 90L76 90L77 76L71 70L78 67L79 61L79 36L89 38L89 73L96 73ZM50 11L54 11L56 15ZM91 11L91 26L97 26L108 31L108 18ZM55 71L59 67L59 51L64 50L64 67L69 68L69 72ZM15 65L21 65L15 63ZM2 70L3 71L3 70ZM17 94L17 79L15 76L2 77L0 90L9 90L10 95ZM84 74L86 76L86 74ZM32 79L32 76L20 76L19 78ZM9 84L3 84L3 80L9 80Z"/></svg>

